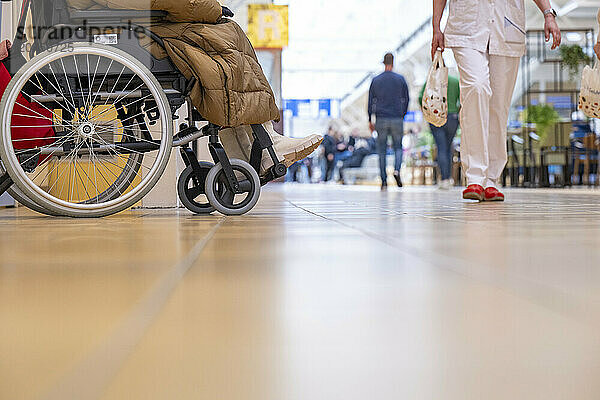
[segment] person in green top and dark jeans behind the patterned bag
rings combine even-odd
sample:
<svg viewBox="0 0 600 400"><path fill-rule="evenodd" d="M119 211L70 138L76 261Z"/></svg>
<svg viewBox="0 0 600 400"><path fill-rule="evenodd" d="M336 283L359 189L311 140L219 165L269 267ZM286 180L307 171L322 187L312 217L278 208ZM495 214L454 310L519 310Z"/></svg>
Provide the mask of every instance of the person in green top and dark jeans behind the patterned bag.
<svg viewBox="0 0 600 400"><path fill-rule="evenodd" d="M423 93L425 93L425 86L421 89L419 95L419 104L423 103ZM452 143L458 130L458 111L460 110L460 85L458 79L449 76L448 77L448 122L444 126L437 127L433 124L429 124L431 128L431 134L435 140L435 145L438 149L437 163L440 167L440 174L442 175L442 181L439 188L442 190L448 190L452 187L452 159L453 159L453 148Z"/></svg>

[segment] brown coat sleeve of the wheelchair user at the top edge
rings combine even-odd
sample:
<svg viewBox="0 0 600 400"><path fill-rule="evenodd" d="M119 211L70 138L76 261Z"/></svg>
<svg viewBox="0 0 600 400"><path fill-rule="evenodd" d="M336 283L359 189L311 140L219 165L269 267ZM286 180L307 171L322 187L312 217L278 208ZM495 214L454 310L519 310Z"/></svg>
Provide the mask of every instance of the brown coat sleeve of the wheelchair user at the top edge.
<svg viewBox="0 0 600 400"><path fill-rule="evenodd" d="M216 23L223 15L217 0L67 0L76 10L114 8L121 10L163 10L172 22Z"/></svg>

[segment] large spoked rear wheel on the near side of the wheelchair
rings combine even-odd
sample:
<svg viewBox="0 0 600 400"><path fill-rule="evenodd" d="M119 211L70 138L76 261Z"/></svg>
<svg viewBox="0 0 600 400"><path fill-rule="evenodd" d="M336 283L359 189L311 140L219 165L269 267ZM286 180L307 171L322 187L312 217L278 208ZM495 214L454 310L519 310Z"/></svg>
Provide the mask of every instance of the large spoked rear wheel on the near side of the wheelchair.
<svg viewBox="0 0 600 400"><path fill-rule="evenodd" d="M171 108L131 55L90 43L71 49L37 55L11 80L0 102L0 157L14 190L36 211L115 214L138 203L164 172Z"/></svg>

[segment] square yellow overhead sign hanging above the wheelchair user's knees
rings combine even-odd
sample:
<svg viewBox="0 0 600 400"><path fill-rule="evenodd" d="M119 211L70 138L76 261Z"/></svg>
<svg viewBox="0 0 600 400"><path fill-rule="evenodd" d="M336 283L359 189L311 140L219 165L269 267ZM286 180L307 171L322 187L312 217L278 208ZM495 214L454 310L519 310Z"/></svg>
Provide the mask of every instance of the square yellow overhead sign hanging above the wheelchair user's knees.
<svg viewBox="0 0 600 400"><path fill-rule="evenodd" d="M248 5L248 37L259 49L282 49L289 42L288 6Z"/></svg>

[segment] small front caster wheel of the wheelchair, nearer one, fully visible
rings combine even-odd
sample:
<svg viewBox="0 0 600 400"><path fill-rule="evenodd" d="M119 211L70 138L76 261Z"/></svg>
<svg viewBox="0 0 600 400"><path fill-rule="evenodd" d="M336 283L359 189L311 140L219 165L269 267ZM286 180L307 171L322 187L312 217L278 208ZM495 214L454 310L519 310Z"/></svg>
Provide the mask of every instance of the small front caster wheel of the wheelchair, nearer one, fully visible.
<svg viewBox="0 0 600 400"><path fill-rule="evenodd" d="M232 159L231 167L240 188L237 193L230 187L223 166L215 165L206 177L206 197L210 204L224 215L243 215L252 210L260 197L260 178L246 161Z"/></svg>

